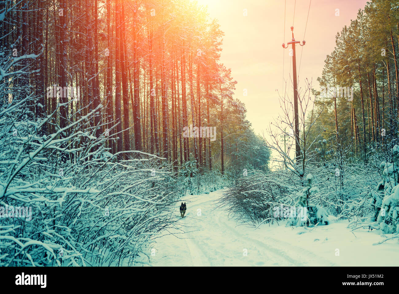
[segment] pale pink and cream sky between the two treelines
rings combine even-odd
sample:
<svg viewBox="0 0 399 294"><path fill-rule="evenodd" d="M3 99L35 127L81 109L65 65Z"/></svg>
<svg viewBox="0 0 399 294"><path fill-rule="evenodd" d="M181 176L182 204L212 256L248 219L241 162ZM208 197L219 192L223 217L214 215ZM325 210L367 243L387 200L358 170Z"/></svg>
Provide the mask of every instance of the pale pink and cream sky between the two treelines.
<svg viewBox="0 0 399 294"><path fill-rule="evenodd" d="M282 92L283 68L284 79L289 78L289 71L292 71L289 48L282 49L281 46L292 39L290 27L294 26L294 38L297 41L306 41L305 46L296 46L298 86L301 86L301 82L303 85L304 79L308 78L313 80L315 89L320 89L316 79L322 74L326 56L334 50L337 32L356 19L359 8L363 9L366 2L198 0L199 4L208 6L209 17L219 20L221 30L225 33L221 62L231 68L232 76L237 80L234 98L245 103L247 119L257 134L262 134L262 131L266 134L266 128L279 114L279 94L276 89ZM247 16L244 16L244 9ZM292 99L292 85L290 87ZM244 96L244 89L247 89L247 96Z"/></svg>

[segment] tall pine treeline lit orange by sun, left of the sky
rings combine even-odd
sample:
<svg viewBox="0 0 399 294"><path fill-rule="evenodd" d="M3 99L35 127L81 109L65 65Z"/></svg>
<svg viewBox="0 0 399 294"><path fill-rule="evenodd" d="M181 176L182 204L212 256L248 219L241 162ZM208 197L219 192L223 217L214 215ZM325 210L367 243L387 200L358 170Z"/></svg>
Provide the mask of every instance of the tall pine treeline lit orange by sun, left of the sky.
<svg viewBox="0 0 399 294"><path fill-rule="evenodd" d="M43 134L103 106L89 120L92 135L105 136L118 160L137 157L126 152L136 150L166 158L175 170L190 160L222 173L237 163L267 166L269 151L233 98L236 82L219 61L223 32L206 7L184 0L7 0L0 12L4 56L34 59L10 66L21 76L2 75L3 102L31 95L29 119L51 116Z"/></svg>

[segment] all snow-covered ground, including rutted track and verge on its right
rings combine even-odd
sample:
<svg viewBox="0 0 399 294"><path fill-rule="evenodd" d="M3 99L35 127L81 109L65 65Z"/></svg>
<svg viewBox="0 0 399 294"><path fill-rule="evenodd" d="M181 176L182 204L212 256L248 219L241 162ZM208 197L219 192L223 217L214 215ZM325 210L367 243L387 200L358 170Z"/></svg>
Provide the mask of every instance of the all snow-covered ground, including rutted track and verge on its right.
<svg viewBox="0 0 399 294"><path fill-rule="evenodd" d="M399 262L397 241L373 245L384 240L379 231L360 229L353 234L347 221L312 231L285 227L285 222L262 224L256 230L238 225L226 211L215 208L221 193L181 200L187 211L177 226L185 233L174 229L173 234L157 238L149 253L152 266L397 266ZM180 218L178 207L176 216Z"/></svg>

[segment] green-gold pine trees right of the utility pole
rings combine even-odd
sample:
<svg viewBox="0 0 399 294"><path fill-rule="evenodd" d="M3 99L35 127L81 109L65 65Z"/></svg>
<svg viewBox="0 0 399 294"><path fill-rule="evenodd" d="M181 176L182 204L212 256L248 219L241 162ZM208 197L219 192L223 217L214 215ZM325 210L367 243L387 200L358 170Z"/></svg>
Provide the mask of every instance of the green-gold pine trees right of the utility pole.
<svg viewBox="0 0 399 294"><path fill-rule="evenodd" d="M336 35L314 92L321 115L310 137L322 135L314 145L319 160L334 156L334 146L354 162L367 163L375 150L392 157L398 144L398 5L370 1Z"/></svg>

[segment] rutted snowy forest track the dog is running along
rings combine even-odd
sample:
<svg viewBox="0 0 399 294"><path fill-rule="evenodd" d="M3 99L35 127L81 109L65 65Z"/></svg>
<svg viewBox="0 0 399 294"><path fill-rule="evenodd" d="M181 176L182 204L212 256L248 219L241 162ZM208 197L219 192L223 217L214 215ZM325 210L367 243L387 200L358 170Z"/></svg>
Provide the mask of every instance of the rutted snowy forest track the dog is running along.
<svg viewBox="0 0 399 294"><path fill-rule="evenodd" d="M215 209L215 200L223 190L187 196L186 217L181 229L170 231L153 244L153 266L303 266L309 265L312 252L304 248L282 250L279 242L262 236L260 229L237 226L227 218L227 212ZM184 200L183 200L184 201ZM176 216L180 216L178 209ZM181 239L180 239L181 238ZM152 251L154 252L154 250ZM153 253L154 254L154 253ZM306 256L305 258L302 258ZM334 265L311 258L312 265Z"/></svg>

